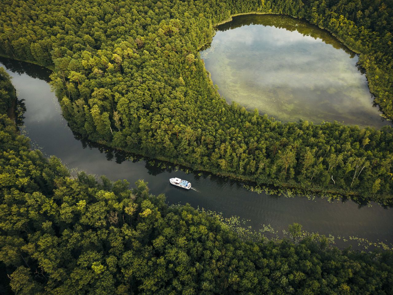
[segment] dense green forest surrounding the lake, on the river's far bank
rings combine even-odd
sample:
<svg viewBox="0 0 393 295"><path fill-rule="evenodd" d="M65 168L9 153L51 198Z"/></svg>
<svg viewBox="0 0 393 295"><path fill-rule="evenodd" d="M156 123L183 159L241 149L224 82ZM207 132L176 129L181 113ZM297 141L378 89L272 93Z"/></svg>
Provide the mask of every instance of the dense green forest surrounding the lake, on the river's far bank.
<svg viewBox="0 0 393 295"><path fill-rule="evenodd" d="M375 101L393 118L391 1L2 4L2 54L53 68L63 114L84 137L259 184L391 203L390 127L282 123L227 105L198 53L231 14L306 18L362 53Z"/></svg>

